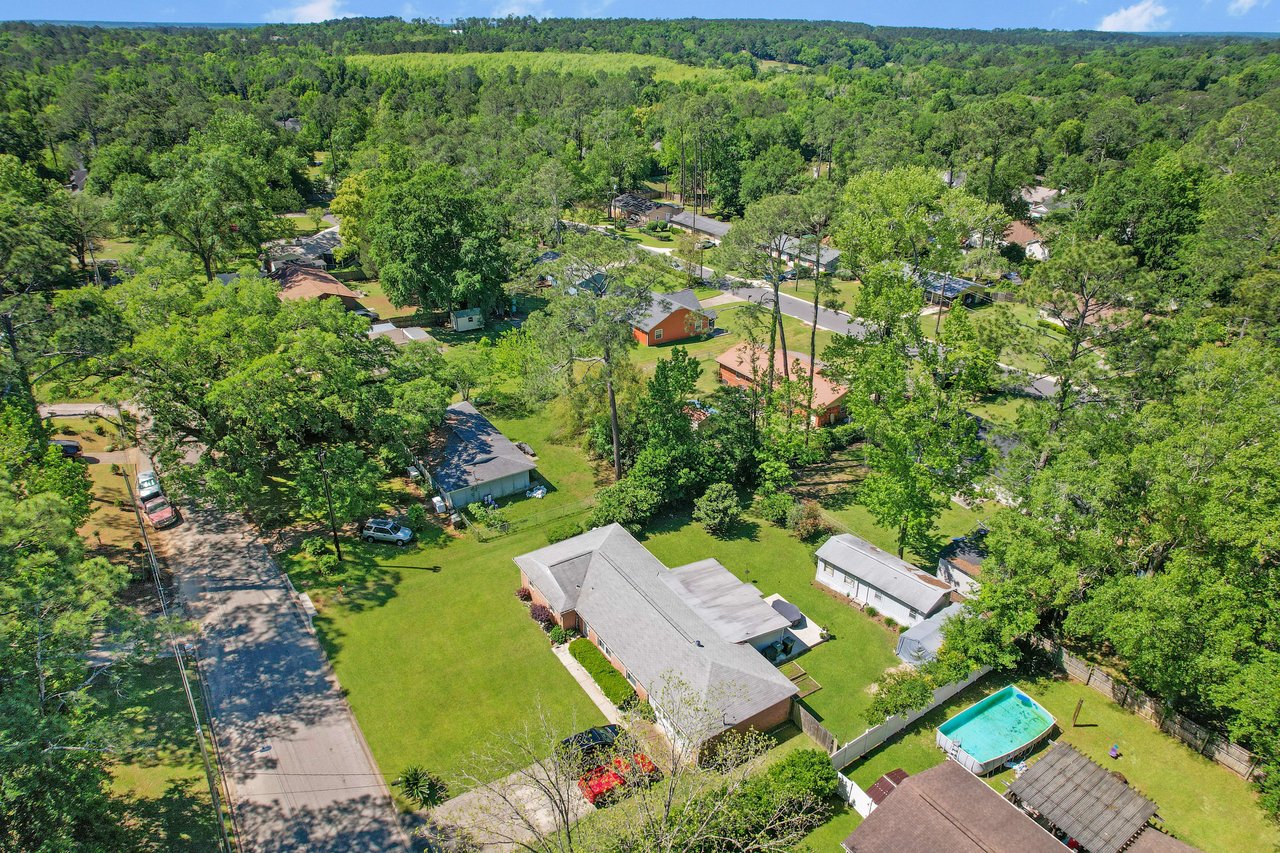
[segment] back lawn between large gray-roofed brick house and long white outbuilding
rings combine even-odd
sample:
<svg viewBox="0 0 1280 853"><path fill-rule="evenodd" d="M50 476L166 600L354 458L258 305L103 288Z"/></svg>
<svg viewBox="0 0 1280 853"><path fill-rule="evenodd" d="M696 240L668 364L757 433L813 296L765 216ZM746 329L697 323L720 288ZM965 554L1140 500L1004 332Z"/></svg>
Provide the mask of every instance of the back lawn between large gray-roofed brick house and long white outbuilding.
<svg viewBox="0 0 1280 853"><path fill-rule="evenodd" d="M872 698L867 688L899 663L893 656L896 634L814 584L815 544L755 519L748 519L733 537L717 539L692 524L687 514L660 517L646 528L644 543L668 566L716 557L740 579L754 583L762 594L781 593L835 634L836 639L799 658L822 685L804 702L841 740L867 730L863 712Z"/></svg>

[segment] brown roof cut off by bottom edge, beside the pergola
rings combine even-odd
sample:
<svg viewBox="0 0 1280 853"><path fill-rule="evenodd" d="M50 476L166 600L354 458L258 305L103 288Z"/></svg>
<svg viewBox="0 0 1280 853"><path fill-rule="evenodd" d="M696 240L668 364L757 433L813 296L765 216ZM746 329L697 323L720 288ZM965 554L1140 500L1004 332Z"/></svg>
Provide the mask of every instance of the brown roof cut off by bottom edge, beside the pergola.
<svg viewBox="0 0 1280 853"><path fill-rule="evenodd" d="M847 853L1062 853L1066 847L954 761L908 776L842 843Z"/></svg>

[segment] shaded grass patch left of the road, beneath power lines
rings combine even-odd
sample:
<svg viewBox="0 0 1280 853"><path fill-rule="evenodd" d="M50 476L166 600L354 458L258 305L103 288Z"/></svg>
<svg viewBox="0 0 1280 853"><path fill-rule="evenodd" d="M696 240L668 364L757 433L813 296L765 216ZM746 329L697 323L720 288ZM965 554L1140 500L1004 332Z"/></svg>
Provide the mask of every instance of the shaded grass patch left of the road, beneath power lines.
<svg viewBox="0 0 1280 853"><path fill-rule="evenodd" d="M111 789L125 826L146 839L146 849L216 849L218 822L175 663L127 670L119 683L102 681L97 698L123 727ZM198 693L196 702L204 716Z"/></svg>

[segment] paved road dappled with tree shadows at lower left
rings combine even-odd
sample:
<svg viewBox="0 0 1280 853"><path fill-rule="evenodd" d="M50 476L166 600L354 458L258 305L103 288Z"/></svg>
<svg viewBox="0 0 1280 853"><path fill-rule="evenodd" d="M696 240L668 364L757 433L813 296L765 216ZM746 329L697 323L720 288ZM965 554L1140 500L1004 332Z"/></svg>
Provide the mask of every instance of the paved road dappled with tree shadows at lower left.
<svg viewBox="0 0 1280 853"><path fill-rule="evenodd" d="M188 619L244 853L406 850L320 643L252 528L188 510L155 534Z"/></svg>

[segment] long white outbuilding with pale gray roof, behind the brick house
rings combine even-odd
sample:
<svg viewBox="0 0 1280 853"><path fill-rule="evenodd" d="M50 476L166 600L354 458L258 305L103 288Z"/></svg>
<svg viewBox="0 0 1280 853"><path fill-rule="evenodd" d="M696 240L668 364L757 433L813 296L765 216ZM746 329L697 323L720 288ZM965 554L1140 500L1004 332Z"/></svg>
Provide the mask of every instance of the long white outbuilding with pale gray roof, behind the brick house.
<svg viewBox="0 0 1280 853"><path fill-rule="evenodd" d="M951 603L951 584L849 533L818 548L819 584L908 628Z"/></svg>

